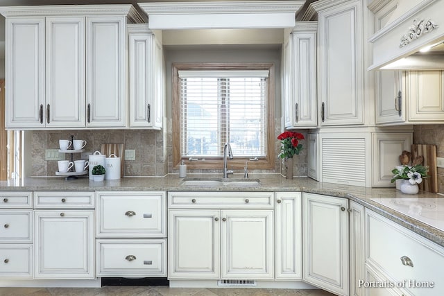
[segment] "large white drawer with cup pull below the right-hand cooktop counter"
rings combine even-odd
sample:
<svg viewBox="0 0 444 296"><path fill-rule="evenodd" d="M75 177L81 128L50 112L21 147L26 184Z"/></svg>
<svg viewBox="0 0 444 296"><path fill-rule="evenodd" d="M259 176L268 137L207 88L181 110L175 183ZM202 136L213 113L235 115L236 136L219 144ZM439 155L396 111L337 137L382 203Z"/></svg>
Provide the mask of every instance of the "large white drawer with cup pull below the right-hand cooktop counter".
<svg viewBox="0 0 444 296"><path fill-rule="evenodd" d="M393 281L407 281L403 288L416 295L444 295L444 248L391 220L366 211L366 265ZM404 262L403 262L404 261ZM407 262L411 261L411 263ZM418 288L433 282L434 288Z"/></svg>

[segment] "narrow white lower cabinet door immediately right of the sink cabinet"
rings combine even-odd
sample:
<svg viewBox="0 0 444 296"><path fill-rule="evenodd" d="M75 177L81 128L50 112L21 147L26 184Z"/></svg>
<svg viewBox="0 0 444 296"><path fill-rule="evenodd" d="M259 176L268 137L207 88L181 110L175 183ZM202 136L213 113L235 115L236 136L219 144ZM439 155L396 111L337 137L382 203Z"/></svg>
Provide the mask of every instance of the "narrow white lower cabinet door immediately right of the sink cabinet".
<svg viewBox="0 0 444 296"><path fill-rule="evenodd" d="M276 279L302 278L301 193L276 193Z"/></svg>

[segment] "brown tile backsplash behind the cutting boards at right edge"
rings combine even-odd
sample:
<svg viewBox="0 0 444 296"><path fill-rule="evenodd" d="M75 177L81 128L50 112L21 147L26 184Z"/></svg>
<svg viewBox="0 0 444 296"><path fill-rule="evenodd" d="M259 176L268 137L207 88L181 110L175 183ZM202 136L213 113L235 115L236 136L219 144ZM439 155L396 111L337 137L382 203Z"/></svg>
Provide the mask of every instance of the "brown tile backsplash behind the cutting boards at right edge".
<svg viewBox="0 0 444 296"><path fill-rule="evenodd" d="M415 125L413 143L436 145L436 156L444 157L444 125ZM444 193L444 168L438 168L438 192Z"/></svg>

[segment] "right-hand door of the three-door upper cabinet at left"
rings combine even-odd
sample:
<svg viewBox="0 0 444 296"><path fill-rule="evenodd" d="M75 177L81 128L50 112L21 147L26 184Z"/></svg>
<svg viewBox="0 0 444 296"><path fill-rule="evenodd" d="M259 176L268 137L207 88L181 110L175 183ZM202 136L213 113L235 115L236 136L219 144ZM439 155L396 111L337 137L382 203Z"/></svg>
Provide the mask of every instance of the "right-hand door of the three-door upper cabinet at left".
<svg viewBox="0 0 444 296"><path fill-rule="evenodd" d="M87 126L126 126L125 17L86 18Z"/></svg>

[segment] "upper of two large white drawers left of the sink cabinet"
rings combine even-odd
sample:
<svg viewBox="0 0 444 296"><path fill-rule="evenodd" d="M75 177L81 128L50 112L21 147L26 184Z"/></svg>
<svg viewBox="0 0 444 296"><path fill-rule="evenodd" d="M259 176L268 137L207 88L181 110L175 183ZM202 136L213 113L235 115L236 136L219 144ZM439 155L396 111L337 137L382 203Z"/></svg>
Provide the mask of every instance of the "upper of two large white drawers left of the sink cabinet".
<svg viewBox="0 0 444 296"><path fill-rule="evenodd" d="M166 193L99 192L98 237L166 237Z"/></svg>

